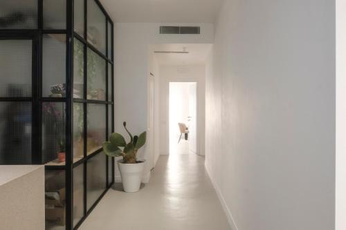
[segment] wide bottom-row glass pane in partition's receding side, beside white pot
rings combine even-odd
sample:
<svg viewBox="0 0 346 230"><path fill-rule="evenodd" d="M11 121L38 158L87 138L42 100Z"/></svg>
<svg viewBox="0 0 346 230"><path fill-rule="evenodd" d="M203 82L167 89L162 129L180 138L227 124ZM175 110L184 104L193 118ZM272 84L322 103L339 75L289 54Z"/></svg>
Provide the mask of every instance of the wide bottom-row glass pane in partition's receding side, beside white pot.
<svg viewBox="0 0 346 230"><path fill-rule="evenodd" d="M86 164L86 207L89 210L106 189L106 155L98 153Z"/></svg>

